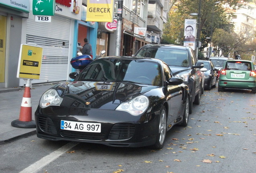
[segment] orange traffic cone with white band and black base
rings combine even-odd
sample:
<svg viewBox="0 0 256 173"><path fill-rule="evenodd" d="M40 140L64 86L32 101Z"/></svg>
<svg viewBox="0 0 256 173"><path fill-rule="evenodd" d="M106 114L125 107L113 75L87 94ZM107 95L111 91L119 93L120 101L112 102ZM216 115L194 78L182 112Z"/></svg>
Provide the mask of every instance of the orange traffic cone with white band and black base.
<svg viewBox="0 0 256 173"><path fill-rule="evenodd" d="M23 94L20 117L19 119L12 121L11 125L20 128L35 128L35 121L32 120L32 104L29 84L26 84Z"/></svg>

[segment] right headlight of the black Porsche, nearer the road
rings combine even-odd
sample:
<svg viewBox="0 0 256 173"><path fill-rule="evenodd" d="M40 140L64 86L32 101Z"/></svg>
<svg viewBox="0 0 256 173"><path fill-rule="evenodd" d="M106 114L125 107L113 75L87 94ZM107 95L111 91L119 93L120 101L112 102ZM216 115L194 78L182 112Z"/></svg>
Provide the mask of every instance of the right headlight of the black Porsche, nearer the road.
<svg viewBox="0 0 256 173"><path fill-rule="evenodd" d="M149 107L149 99L146 96L138 96L130 101L121 103L116 110L127 111L132 115L140 115Z"/></svg>

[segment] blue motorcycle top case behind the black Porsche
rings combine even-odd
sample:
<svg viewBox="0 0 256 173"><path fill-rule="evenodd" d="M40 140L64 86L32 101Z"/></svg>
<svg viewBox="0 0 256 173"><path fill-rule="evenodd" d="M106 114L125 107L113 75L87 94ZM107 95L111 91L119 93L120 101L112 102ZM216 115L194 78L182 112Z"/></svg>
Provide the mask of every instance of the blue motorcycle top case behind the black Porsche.
<svg viewBox="0 0 256 173"><path fill-rule="evenodd" d="M85 68L88 64L93 61L90 55L80 55L72 58L70 64L75 69Z"/></svg>

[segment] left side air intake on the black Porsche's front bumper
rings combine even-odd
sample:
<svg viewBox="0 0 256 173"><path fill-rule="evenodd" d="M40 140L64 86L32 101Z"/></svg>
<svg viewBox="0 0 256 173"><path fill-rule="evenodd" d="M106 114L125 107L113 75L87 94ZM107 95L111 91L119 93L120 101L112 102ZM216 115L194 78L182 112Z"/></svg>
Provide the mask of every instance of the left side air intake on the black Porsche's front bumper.
<svg viewBox="0 0 256 173"><path fill-rule="evenodd" d="M57 130L54 126L54 123L48 117L38 117L38 125L40 129L46 133L51 133L54 135L57 134Z"/></svg>

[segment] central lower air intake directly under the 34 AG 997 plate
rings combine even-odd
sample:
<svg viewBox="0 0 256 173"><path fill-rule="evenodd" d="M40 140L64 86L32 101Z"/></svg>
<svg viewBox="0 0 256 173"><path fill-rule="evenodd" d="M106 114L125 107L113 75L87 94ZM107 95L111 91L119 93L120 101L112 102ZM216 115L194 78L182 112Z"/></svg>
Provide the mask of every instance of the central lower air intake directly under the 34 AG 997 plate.
<svg viewBox="0 0 256 173"><path fill-rule="evenodd" d="M104 138L104 133L88 133L78 131L67 131L60 130L60 134L63 137L74 138L74 139L87 139L87 140L101 140Z"/></svg>

